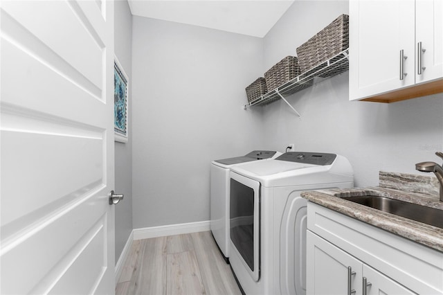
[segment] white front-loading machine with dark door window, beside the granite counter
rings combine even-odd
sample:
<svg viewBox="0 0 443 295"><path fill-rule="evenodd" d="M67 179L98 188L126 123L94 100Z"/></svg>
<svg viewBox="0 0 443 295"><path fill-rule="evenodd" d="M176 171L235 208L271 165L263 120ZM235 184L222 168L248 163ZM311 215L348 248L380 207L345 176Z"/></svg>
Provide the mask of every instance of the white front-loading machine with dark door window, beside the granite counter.
<svg viewBox="0 0 443 295"><path fill-rule="evenodd" d="M306 294L303 190L352 188L337 154L287 152L230 171L230 265L245 294Z"/></svg>

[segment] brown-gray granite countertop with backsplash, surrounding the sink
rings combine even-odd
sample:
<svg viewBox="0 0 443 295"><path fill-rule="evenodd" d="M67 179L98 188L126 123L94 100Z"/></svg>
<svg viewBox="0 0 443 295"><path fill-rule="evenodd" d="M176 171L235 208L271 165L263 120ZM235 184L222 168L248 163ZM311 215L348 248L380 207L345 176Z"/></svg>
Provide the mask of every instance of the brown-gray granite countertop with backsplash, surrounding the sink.
<svg viewBox="0 0 443 295"><path fill-rule="evenodd" d="M443 251L443 229L341 199L378 195L440 209L443 217L443 202L439 201L438 190L439 184L435 177L380 172L380 186L310 190L301 195L310 202Z"/></svg>

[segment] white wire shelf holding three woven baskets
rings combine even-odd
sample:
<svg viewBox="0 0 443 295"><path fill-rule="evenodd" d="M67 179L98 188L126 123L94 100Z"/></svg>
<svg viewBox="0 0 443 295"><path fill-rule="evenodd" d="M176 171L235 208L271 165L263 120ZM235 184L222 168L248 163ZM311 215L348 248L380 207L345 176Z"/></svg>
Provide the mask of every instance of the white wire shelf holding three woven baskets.
<svg viewBox="0 0 443 295"><path fill-rule="evenodd" d="M296 78L280 85L279 87L269 91L268 93L260 96L247 105L244 108L257 106L257 105L268 105L271 102L280 100L282 95L289 96L293 93L301 91L307 87L311 87L314 84L318 84L327 80L334 75L339 75L349 70L349 49L338 53L329 60L314 66L312 69L305 71L298 75Z"/></svg>

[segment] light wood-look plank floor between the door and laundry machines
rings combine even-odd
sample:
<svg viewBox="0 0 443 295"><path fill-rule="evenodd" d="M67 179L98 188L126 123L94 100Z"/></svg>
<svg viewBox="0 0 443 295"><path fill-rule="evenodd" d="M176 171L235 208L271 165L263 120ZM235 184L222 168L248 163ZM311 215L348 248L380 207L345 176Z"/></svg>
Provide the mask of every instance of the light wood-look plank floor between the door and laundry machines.
<svg viewBox="0 0 443 295"><path fill-rule="evenodd" d="M210 231L135 240L116 294L241 294Z"/></svg>

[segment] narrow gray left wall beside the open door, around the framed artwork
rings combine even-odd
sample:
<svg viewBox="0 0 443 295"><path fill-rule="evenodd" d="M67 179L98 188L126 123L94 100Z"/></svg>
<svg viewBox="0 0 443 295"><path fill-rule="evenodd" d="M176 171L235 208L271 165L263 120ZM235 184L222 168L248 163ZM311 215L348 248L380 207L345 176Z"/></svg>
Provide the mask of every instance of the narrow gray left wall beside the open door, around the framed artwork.
<svg viewBox="0 0 443 295"><path fill-rule="evenodd" d="M115 54L129 77L129 142L115 143L116 193L125 198L116 208L116 262L132 232L132 15L126 0L115 2Z"/></svg>

